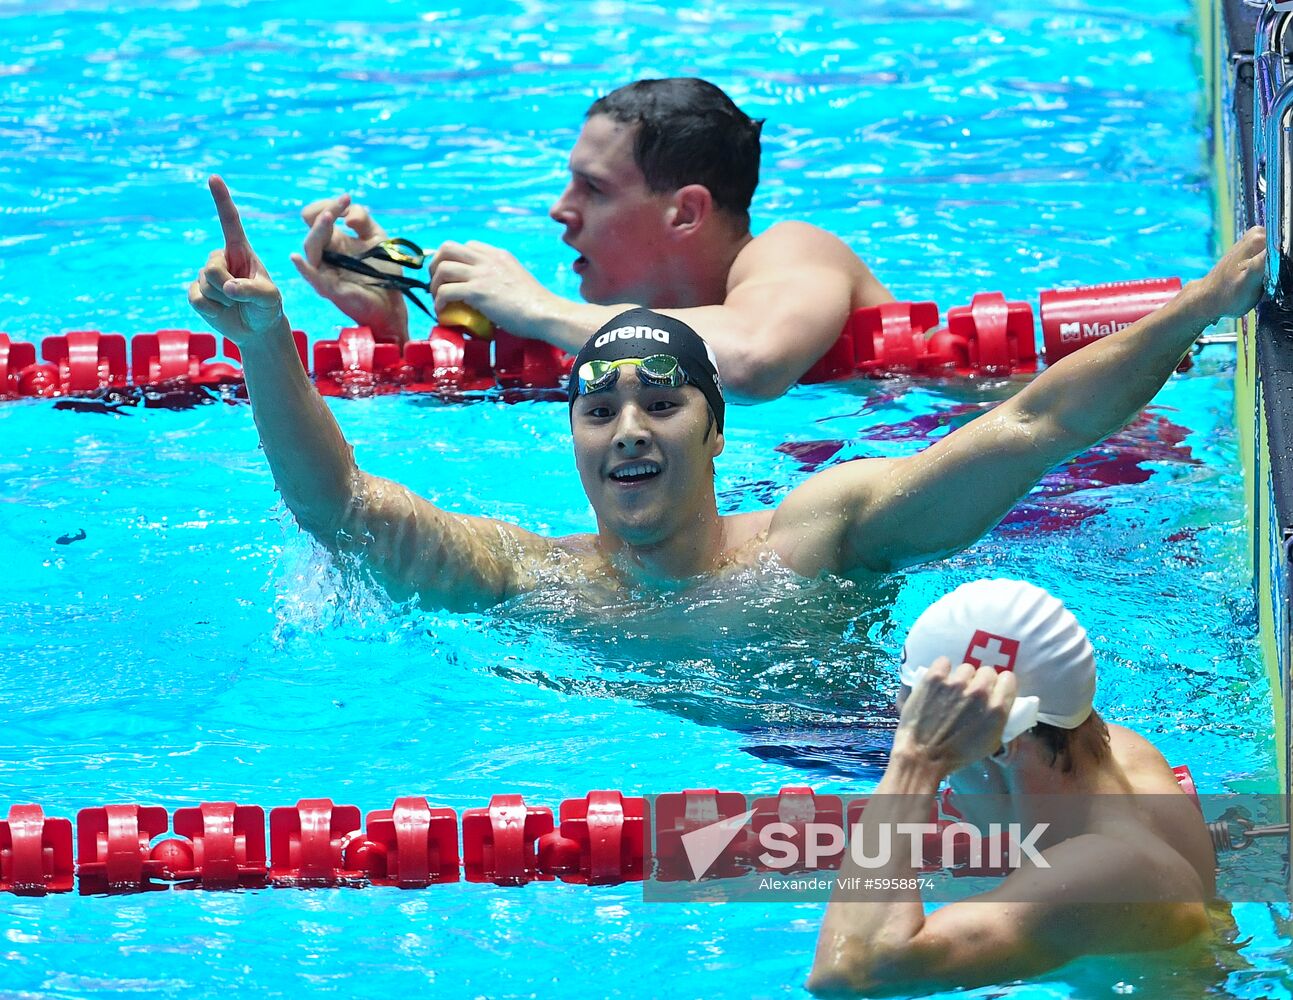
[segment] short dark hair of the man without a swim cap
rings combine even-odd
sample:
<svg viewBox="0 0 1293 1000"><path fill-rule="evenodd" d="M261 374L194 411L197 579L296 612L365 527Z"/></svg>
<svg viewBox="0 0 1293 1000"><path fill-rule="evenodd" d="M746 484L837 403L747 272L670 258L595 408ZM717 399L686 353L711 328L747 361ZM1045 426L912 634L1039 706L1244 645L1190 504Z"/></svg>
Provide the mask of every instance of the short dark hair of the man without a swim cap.
<svg viewBox="0 0 1293 1000"><path fill-rule="evenodd" d="M637 125L634 160L652 191L702 184L719 210L749 224L763 119L751 119L712 83L637 80L593 101L586 118L592 115Z"/></svg>

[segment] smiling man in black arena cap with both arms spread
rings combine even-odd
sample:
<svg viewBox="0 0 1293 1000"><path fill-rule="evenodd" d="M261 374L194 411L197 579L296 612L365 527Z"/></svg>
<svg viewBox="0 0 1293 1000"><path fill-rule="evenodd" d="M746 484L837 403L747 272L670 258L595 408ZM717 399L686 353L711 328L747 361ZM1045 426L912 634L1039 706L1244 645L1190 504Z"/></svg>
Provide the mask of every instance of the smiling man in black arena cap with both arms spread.
<svg viewBox="0 0 1293 1000"><path fill-rule="evenodd" d="M908 458L835 466L775 510L719 516L724 413L705 342L634 310L588 339L572 373L575 466L592 534L547 538L450 514L362 472L301 369L282 298L219 177L225 234L189 287L194 309L242 351L265 457L297 523L359 554L397 600L477 611L543 587L685 585L778 558L807 577L886 573L940 559L989 530L1041 476L1118 429L1209 325L1257 301L1253 229L1171 303L1053 365L1012 398ZM649 362L649 364L648 364ZM674 362L672 365L670 362Z"/></svg>

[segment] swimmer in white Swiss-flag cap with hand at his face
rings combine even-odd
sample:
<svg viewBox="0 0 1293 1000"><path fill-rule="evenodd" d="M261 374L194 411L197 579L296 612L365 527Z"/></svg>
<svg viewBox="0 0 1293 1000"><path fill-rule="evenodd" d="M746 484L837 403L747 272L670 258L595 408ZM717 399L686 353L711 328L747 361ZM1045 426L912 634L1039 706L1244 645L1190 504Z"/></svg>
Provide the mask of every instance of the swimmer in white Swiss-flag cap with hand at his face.
<svg viewBox="0 0 1293 1000"><path fill-rule="evenodd" d="M1037 843L1049 867L1020 867L928 915L919 889L837 891L813 992L1009 982L1209 929L1215 858L1202 815L1147 740L1094 710L1091 646L1060 602L1014 580L966 583L917 618L903 652L893 752L853 836L927 821L949 777L976 827L1049 823ZM905 850L887 868L848 859L839 875L918 884Z"/></svg>

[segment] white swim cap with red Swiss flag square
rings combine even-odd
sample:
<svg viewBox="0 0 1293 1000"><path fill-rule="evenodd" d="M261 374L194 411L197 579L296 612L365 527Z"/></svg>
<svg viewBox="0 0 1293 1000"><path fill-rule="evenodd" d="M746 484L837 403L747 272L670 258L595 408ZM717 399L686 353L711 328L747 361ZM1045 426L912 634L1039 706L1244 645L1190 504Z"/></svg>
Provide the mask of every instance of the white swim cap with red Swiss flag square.
<svg viewBox="0 0 1293 1000"><path fill-rule="evenodd" d="M965 662L1015 674L1019 695L1006 743L1036 722L1072 730L1091 714L1095 656L1086 630L1032 583L976 580L934 602L908 633L903 683L914 688L940 656L953 666Z"/></svg>

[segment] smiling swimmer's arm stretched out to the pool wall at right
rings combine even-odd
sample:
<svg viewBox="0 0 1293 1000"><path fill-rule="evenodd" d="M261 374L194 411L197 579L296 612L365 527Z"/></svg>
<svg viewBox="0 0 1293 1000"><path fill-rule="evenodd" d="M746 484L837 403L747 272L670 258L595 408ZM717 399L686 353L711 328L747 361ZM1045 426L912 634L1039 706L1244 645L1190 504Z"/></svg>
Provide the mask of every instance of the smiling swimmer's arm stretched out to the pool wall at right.
<svg viewBox="0 0 1293 1000"><path fill-rule="evenodd" d="M777 510L775 547L802 573L888 572L978 541L1051 468L1130 420L1195 339L1261 296L1265 234L1249 230L1161 309L1049 367L917 455L837 466Z"/></svg>

